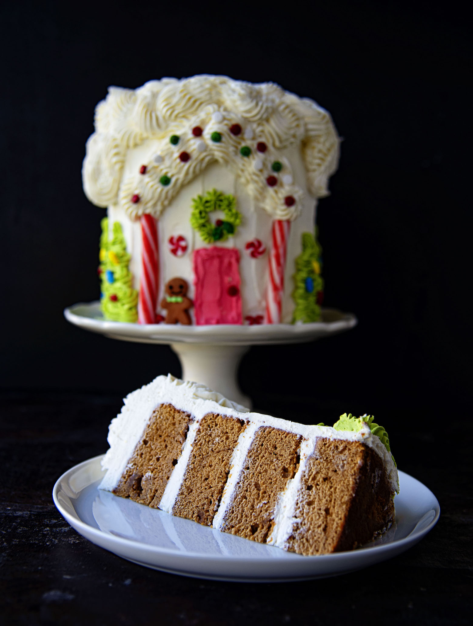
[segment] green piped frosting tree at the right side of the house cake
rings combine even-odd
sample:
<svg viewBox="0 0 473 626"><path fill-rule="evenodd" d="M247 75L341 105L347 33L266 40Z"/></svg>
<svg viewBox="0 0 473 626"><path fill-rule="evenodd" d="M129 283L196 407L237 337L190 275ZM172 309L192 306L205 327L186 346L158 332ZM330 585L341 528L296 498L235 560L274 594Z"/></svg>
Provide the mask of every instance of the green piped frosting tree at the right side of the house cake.
<svg viewBox="0 0 473 626"><path fill-rule="evenodd" d="M318 294L323 290L323 279L320 275L322 248L315 234L302 233L302 252L295 260L296 272L293 275L294 290L292 299L295 309L292 323L317 322L320 319L320 306L317 304Z"/></svg>

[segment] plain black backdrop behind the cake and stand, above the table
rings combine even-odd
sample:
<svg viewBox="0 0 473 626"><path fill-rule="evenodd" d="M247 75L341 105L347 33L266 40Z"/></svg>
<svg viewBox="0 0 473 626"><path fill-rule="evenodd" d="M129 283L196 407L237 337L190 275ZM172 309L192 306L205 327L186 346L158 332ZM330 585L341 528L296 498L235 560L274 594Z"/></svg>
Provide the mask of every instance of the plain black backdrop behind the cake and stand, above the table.
<svg viewBox="0 0 473 626"><path fill-rule="evenodd" d="M336 398L340 410L378 414L386 404L465 401L464 14L441 3L72 6L4 5L1 386L123 394L179 374L168 347L111 341L63 319L66 305L99 292L104 211L84 196L81 162L109 85L221 73L275 81L332 114L344 141L318 210L325 304L360 320L334 339L252 349L243 390Z"/></svg>

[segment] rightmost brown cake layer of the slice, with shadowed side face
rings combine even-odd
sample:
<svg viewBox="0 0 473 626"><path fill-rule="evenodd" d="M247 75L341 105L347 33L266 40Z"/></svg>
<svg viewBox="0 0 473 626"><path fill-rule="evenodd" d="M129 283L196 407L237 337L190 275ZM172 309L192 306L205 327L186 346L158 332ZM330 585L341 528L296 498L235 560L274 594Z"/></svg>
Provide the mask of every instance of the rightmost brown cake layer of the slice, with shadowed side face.
<svg viewBox="0 0 473 626"><path fill-rule="evenodd" d="M303 555L352 550L394 520L382 459L356 441L320 438L302 476L288 549Z"/></svg>

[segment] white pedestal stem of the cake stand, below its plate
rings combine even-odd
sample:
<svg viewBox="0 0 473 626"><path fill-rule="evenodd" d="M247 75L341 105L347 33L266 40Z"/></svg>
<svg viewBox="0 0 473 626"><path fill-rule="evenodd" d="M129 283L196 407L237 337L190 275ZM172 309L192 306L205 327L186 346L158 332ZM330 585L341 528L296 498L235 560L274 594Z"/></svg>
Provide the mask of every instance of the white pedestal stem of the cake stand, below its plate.
<svg viewBox="0 0 473 626"><path fill-rule="evenodd" d="M173 343L185 381L201 382L233 402L251 407L237 382L238 366L250 346L212 346L209 344Z"/></svg>

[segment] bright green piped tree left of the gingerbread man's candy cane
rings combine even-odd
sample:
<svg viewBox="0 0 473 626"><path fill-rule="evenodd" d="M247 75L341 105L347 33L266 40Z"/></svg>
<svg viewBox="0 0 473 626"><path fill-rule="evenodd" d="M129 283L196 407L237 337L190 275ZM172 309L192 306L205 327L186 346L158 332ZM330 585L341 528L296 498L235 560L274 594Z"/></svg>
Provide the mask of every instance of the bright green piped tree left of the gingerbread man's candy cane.
<svg viewBox="0 0 473 626"><path fill-rule="evenodd" d="M131 286L125 237L120 222L113 223L113 236L108 239L108 218L101 220L100 237L100 308L105 319L114 322L138 321L138 291Z"/></svg>

